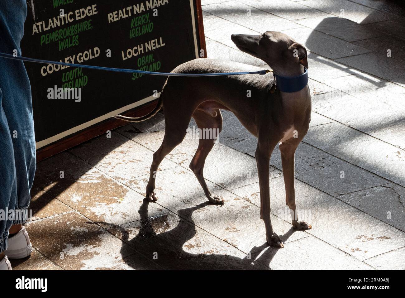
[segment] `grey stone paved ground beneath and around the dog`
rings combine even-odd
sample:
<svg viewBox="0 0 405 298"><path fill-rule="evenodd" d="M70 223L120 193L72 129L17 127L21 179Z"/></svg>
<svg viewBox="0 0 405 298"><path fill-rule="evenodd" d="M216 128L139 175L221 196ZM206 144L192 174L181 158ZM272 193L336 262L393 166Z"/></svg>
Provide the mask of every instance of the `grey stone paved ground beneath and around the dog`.
<svg viewBox="0 0 405 298"><path fill-rule="evenodd" d="M159 113L38 163L27 224L35 251L15 269L405 269L404 10L372 0L202 2L209 58L262 65L230 34L265 30L310 50L313 114L295 185L313 229L296 232L284 215L276 148L272 221L285 248L266 245L256 139L228 112L205 169L226 204L207 204L188 169L192 138L160 166L157 204L143 202L164 135Z"/></svg>

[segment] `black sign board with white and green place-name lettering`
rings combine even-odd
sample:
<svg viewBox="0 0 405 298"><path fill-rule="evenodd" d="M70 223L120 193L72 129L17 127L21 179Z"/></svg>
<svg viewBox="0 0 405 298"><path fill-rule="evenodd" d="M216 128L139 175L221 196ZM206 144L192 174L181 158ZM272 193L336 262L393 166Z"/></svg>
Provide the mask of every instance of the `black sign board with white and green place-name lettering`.
<svg viewBox="0 0 405 298"><path fill-rule="evenodd" d="M28 0L27 4L22 56L160 72L200 57L201 49L205 56L200 0ZM156 100L166 80L55 64L25 65L37 150L65 140L56 150L62 151L102 133L100 126L97 132L85 131ZM77 134L85 137L66 142Z"/></svg>

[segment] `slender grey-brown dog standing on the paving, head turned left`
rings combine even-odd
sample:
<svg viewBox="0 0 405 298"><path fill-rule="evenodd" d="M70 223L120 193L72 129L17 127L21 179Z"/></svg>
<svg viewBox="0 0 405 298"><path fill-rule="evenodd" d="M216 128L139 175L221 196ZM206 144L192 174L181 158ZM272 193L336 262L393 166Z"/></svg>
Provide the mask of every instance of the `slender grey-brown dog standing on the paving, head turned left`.
<svg viewBox="0 0 405 298"><path fill-rule="evenodd" d="M153 111L139 118L121 115L117 115L117 118L140 122L154 116L162 107L164 109L164 139L160 148L153 154L146 187L146 199L152 201L157 199L155 179L158 166L164 157L183 141L191 117L199 129L220 132L220 109L231 111L258 139L255 157L260 186L260 218L266 228L267 243L284 247L281 238L274 232L270 219L269 163L277 143L281 152L286 205L291 210L292 225L296 229L312 228L305 221L298 220L294 192L294 154L307 133L311 120L311 94L307 86L307 76L305 81L308 69L307 50L290 36L275 31L260 35L232 34L231 40L241 51L268 64L274 72L273 76L169 76ZM262 69L247 64L199 58L177 66L172 72L228 73L259 70ZM303 78L303 84L299 83L300 78ZM289 85L297 83L297 80L301 86L283 90L290 88ZM250 94L250 97L247 94ZM213 146L212 139L200 138L190 169L203 187L209 202L224 204L222 197L211 193L203 176L205 159Z"/></svg>

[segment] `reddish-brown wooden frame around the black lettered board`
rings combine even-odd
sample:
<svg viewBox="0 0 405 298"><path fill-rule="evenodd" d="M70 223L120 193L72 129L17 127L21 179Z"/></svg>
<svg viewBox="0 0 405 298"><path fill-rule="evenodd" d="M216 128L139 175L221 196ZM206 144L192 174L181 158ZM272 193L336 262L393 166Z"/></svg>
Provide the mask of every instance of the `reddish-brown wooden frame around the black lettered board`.
<svg viewBox="0 0 405 298"><path fill-rule="evenodd" d="M197 14L197 24L198 24L198 35L199 42L200 42L200 50L204 50L204 58L207 57L207 48L205 45L205 34L204 34L204 25L203 25L203 12L201 9L201 0L195 0L196 2L196 14ZM149 101L143 105L130 109L126 111L123 115L129 117L140 117L145 114L148 114L154 107L156 106L155 101ZM36 158L37 161L41 161L46 159L47 157L51 157L59 152L72 148L76 145L79 145L85 141L88 141L98 135L104 134L107 130L115 129L119 126L124 126L128 124L128 122L118 119L109 119L104 120L100 123L94 124L89 126L82 131L75 133L73 135L68 135L61 139L58 139L52 144L47 146L43 146L36 151Z"/></svg>

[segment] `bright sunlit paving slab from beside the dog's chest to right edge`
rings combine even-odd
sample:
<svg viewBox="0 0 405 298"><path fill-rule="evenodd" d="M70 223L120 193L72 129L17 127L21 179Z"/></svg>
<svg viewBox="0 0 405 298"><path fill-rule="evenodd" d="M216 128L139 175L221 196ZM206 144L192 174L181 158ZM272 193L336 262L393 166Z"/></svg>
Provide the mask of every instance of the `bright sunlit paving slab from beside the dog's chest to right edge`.
<svg viewBox="0 0 405 298"><path fill-rule="evenodd" d="M403 150L334 122L314 126L305 142L405 186Z"/></svg>

